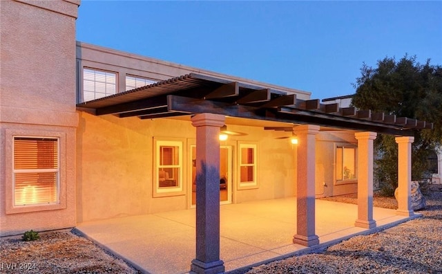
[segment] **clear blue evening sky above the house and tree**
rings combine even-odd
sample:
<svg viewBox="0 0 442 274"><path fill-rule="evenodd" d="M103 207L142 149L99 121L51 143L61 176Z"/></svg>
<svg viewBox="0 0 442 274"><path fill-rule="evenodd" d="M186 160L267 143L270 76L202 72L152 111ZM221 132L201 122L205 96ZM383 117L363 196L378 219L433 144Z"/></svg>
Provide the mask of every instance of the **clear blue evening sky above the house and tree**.
<svg viewBox="0 0 442 274"><path fill-rule="evenodd" d="M442 1L88 1L77 40L310 91L354 93L365 62L442 65Z"/></svg>

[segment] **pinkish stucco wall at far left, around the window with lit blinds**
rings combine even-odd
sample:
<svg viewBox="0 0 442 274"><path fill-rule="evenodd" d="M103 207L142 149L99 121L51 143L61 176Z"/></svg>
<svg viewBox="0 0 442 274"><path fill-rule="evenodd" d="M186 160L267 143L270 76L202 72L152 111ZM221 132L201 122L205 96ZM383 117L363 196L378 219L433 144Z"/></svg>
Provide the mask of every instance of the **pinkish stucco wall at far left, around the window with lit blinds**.
<svg viewBox="0 0 442 274"><path fill-rule="evenodd" d="M75 19L79 1L0 1L0 235L75 226ZM66 206L7 214L7 131L64 136Z"/></svg>

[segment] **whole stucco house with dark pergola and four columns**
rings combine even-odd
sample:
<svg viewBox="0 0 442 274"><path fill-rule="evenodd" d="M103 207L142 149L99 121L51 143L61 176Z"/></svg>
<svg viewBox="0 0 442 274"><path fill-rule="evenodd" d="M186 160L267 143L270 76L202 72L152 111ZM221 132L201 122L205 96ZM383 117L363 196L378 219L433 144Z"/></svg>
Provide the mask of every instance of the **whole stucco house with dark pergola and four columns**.
<svg viewBox="0 0 442 274"><path fill-rule="evenodd" d="M1 236L196 206L191 271L222 272L222 203L295 196L294 243L313 246L314 199L358 192L355 225L375 227L379 132L397 136L398 214L413 214L412 135L425 122L76 42L78 6L0 1Z"/></svg>

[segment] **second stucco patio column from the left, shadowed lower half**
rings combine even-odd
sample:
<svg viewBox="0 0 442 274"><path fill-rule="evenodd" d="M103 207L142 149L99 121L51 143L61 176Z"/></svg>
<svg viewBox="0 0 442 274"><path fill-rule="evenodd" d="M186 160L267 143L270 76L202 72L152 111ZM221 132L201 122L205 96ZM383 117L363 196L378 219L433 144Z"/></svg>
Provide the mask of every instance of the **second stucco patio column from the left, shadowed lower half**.
<svg viewBox="0 0 442 274"><path fill-rule="evenodd" d="M319 244L315 234L315 165L316 140L319 132L317 125L302 125L294 127L298 137L297 183L296 183L296 235L294 244L314 246Z"/></svg>

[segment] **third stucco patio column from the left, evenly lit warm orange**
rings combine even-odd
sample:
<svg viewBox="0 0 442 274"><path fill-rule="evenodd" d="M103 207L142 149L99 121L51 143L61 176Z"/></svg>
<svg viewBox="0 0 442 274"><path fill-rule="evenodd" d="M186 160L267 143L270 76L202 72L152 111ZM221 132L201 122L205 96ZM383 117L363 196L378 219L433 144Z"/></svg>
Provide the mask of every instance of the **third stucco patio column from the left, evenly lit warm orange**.
<svg viewBox="0 0 442 274"><path fill-rule="evenodd" d="M373 219L373 140L375 132L356 132L358 140L358 219L355 226L375 228Z"/></svg>

